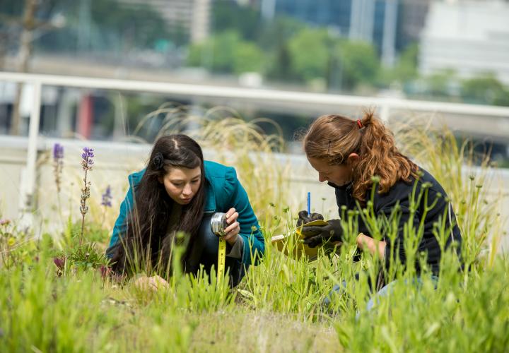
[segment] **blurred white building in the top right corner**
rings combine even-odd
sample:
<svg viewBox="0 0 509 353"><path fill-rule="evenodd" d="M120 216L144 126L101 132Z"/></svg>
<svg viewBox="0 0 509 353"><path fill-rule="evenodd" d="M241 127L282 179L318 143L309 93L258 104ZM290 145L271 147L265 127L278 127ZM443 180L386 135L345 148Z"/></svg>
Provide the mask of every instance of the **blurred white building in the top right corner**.
<svg viewBox="0 0 509 353"><path fill-rule="evenodd" d="M421 36L423 75L452 69L462 78L494 73L509 83L509 3L433 2Z"/></svg>

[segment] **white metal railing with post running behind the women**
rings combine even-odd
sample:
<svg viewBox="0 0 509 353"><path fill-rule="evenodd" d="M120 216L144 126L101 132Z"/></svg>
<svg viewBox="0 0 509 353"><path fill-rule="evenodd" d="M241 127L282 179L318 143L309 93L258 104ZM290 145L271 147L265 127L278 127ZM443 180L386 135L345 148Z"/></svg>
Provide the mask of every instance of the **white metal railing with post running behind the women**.
<svg viewBox="0 0 509 353"><path fill-rule="evenodd" d="M30 110L28 151L26 169L21 185L21 208L30 210L35 190L35 163L37 157L37 136L40 123L41 92L43 86L63 86L73 88L95 88L134 92L157 92L185 97L228 98L247 102L271 102L272 104L302 104L329 107L377 107L380 117L387 121L394 110L410 112L429 112L462 116L489 116L493 131L498 136L509 139L509 107L457 104L445 102L424 102L401 100L388 97L354 97L349 95L329 95L306 92L288 92L250 88L227 88L212 85L190 85L181 83L161 83L138 80L115 80L103 78L83 78L73 76L38 75L28 73L0 72L0 81L33 85L32 107ZM290 110L291 108L288 108ZM464 123L463 123L464 124ZM31 222L30 213L25 219Z"/></svg>

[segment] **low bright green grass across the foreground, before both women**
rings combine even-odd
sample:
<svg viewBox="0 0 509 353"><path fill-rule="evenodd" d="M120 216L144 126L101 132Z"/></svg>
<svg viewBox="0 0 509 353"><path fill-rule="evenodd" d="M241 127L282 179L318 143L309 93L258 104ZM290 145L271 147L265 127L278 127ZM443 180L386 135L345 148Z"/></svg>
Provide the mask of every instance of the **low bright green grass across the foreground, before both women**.
<svg viewBox="0 0 509 353"><path fill-rule="evenodd" d="M445 256L437 289L427 277L405 284L411 277L402 273L390 296L366 311L366 277L352 275L376 259L354 264L345 246L310 264L267 246L264 262L231 292L205 275L175 275L153 292L103 280L93 267L58 276L47 238L0 269L0 350L503 352L509 345L507 258L489 266L479 259L463 274ZM339 279L344 293L327 308L322 301Z"/></svg>

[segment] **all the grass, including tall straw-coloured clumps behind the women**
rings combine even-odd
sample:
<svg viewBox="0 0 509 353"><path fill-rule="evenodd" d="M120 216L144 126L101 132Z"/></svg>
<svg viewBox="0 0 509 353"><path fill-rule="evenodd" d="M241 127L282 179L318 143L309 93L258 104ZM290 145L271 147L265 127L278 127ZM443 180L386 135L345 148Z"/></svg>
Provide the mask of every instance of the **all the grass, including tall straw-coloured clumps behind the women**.
<svg viewBox="0 0 509 353"><path fill-rule="evenodd" d="M224 141L217 131L224 126L207 124L203 131L209 132L202 131L201 138L217 148ZM254 162L248 160L248 151L260 140L249 126L239 131L230 142L240 149L235 166L240 175L254 176L242 183L255 191L270 184L271 176L262 171L274 160L256 153ZM320 253L309 263L279 253L268 239L291 232L297 211L275 202L289 193L283 166L271 169L273 188L262 195L253 192L267 250L262 263L233 290L226 281L216 285L213 272L189 277L178 268L168 287L157 292L134 286L134 280L103 277L109 229L101 220L87 220L83 246L76 239L81 225L72 222L61 236L41 239L16 229L16 222L0 225L0 352L506 352L509 259L496 253L499 238L493 234L503 220L496 216L496 201L484 193L490 166L486 162L481 174L465 175L464 165L472 162L467 145L458 148L449 135L418 137L409 138L411 143L404 136L399 140L411 155L426 154L423 167L452 198L469 267L458 270L457 258L446 251L436 289L426 271L416 285L411 266L403 271L395 263L387 273L396 280L392 292L367 311L372 297L368 275L378 273L380 260L364 253L353 262L357 213L345 217L350 241L338 255ZM427 147L437 139L441 148ZM242 150L242 145L247 147ZM267 145L257 151L274 148ZM226 158L228 149L222 153ZM376 217L368 222L394 230ZM407 255L416 259L420 255L412 253L410 240L418 236L416 229L406 233ZM62 268L55 257L64 259ZM356 273L361 273L358 281ZM343 280L346 287L324 306L329 291Z"/></svg>

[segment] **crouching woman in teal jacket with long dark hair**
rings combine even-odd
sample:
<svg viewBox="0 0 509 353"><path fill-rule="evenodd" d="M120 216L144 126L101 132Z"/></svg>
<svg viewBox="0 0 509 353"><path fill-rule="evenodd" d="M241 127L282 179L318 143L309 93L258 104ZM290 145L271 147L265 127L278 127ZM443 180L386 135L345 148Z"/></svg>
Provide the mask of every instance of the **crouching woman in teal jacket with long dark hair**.
<svg viewBox="0 0 509 353"><path fill-rule="evenodd" d="M140 269L168 274L175 244L183 244L182 265L217 268L218 237L213 213L226 213L226 268L237 285L264 253L264 238L235 169L204 161L196 141L185 135L159 138L146 168L129 175L129 191L113 228L107 256L117 273ZM177 234L185 234L179 239Z"/></svg>

